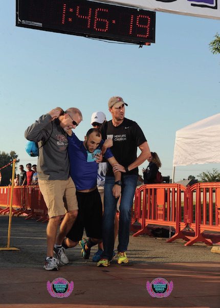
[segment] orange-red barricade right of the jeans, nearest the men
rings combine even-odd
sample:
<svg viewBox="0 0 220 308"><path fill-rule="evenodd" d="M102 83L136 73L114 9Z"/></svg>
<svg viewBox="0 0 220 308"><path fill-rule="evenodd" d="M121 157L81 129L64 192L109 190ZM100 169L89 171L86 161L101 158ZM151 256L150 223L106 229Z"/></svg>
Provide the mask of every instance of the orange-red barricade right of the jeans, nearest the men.
<svg viewBox="0 0 220 308"><path fill-rule="evenodd" d="M133 236L151 235L149 225L175 228L174 238L188 240L183 234L187 225L185 202L186 187L180 184L148 184L136 190L136 212L140 214L141 229Z"/></svg>

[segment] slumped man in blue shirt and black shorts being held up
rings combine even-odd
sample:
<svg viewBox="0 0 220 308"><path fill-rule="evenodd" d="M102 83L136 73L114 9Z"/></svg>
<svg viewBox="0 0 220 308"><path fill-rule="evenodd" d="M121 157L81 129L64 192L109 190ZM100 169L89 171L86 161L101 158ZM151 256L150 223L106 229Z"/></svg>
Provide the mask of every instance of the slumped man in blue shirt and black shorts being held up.
<svg viewBox="0 0 220 308"><path fill-rule="evenodd" d="M64 248L75 247L79 241L82 257L89 259L90 250L102 241L102 202L97 189L98 163L104 141L99 129L87 131L84 141L80 141L70 129L68 133L68 154L70 175L76 186L78 216L72 229L63 241ZM103 150L104 151L104 150ZM114 165L117 163L110 149L104 153L105 159ZM115 172L115 185L112 192L115 198L121 194L121 172ZM88 240L82 239L85 228Z"/></svg>

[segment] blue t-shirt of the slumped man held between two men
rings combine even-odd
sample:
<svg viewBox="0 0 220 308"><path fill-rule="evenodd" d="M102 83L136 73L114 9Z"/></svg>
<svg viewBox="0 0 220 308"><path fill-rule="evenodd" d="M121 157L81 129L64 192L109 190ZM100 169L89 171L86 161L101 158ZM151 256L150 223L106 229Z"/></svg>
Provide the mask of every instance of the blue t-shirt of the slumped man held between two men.
<svg viewBox="0 0 220 308"><path fill-rule="evenodd" d="M104 141L101 140L97 149L101 149ZM90 153L73 133L68 136L68 154L70 160L70 175L75 183L76 190L91 189L97 185L98 164L93 160L94 153ZM105 158L111 158L113 154L109 148L105 152Z"/></svg>

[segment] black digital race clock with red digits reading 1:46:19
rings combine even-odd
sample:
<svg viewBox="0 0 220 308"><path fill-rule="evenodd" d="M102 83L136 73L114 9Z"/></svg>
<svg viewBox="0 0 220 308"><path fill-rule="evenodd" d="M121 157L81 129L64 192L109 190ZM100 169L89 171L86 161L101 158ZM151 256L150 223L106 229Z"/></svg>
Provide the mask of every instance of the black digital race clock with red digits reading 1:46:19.
<svg viewBox="0 0 220 308"><path fill-rule="evenodd" d="M16 0L16 26L148 45L156 13L87 0Z"/></svg>

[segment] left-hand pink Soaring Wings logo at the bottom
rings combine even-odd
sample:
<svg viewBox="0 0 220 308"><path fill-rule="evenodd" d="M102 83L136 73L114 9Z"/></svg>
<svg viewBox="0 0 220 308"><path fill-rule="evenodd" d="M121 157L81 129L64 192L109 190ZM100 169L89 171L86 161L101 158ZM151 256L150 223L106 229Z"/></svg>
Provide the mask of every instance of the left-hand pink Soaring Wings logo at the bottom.
<svg viewBox="0 0 220 308"><path fill-rule="evenodd" d="M74 288L73 281L69 282L64 278L56 278L51 283L48 280L47 290L52 297L68 297Z"/></svg>

